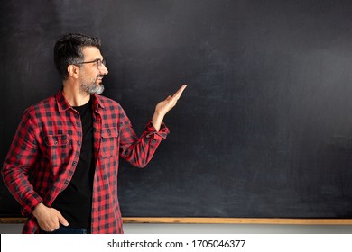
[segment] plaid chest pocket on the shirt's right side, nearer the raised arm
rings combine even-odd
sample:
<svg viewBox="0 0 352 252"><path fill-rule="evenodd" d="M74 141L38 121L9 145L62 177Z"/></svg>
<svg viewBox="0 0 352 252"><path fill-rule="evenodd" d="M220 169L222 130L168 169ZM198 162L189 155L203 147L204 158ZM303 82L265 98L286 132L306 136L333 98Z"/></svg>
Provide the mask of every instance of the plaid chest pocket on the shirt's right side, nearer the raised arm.
<svg viewBox="0 0 352 252"><path fill-rule="evenodd" d="M117 155L118 131L117 128L104 128L101 130L100 155L112 157Z"/></svg>

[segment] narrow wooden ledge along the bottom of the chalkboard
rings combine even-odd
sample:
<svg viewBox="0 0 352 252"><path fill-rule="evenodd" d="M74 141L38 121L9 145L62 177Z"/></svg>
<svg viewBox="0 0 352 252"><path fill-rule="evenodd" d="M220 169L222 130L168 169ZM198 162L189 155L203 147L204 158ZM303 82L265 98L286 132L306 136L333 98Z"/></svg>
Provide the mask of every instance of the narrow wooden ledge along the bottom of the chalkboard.
<svg viewBox="0 0 352 252"><path fill-rule="evenodd" d="M0 223L18 224L24 223L25 220L25 218L0 218ZM124 223L352 225L352 219L125 217L123 220Z"/></svg>

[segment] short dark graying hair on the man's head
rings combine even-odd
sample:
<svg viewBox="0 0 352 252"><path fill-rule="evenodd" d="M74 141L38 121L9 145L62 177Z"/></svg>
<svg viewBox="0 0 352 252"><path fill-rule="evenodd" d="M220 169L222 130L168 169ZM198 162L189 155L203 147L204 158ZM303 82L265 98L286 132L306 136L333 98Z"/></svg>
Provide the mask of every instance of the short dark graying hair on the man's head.
<svg viewBox="0 0 352 252"><path fill-rule="evenodd" d="M62 80L69 77L67 67L84 61L82 49L84 47L100 48L101 41L95 37L84 34L69 33L56 41L54 47L54 63Z"/></svg>

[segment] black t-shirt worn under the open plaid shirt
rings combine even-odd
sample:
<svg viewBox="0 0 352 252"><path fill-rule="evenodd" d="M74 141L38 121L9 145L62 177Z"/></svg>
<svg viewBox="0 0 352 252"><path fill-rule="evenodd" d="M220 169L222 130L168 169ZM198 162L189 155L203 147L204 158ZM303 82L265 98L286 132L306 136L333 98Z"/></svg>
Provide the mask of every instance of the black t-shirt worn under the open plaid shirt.
<svg viewBox="0 0 352 252"><path fill-rule="evenodd" d="M79 163L68 187L58 195L51 207L60 211L62 216L69 221L69 228L90 229L95 171L91 100L83 106L73 108L79 112L83 127Z"/></svg>

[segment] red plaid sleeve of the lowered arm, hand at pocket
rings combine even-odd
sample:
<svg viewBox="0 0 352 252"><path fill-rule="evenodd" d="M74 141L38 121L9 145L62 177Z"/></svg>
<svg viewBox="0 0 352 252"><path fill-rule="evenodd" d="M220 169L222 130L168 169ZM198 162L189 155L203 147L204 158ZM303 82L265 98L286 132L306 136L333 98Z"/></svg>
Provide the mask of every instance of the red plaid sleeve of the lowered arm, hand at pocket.
<svg viewBox="0 0 352 252"><path fill-rule="evenodd" d="M22 205L23 215L32 212L35 206L42 202L39 194L34 192L28 175L38 154L33 131L31 117L24 112L2 169L5 185Z"/></svg>

